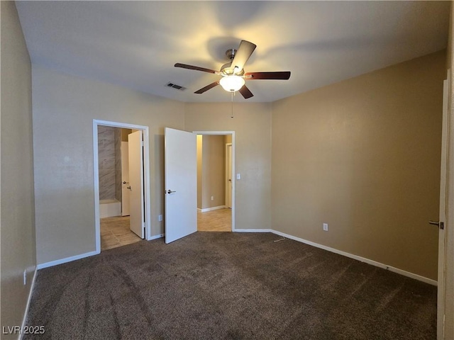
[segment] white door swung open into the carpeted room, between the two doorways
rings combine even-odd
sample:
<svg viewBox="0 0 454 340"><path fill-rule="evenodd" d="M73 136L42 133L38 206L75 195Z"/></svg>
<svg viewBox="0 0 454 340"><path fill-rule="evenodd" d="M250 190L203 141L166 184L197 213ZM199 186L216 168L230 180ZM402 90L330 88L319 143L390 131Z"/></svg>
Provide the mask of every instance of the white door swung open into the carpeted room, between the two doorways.
<svg viewBox="0 0 454 340"><path fill-rule="evenodd" d="M197 231L196 135L165 128L165 243Z"/></svg>

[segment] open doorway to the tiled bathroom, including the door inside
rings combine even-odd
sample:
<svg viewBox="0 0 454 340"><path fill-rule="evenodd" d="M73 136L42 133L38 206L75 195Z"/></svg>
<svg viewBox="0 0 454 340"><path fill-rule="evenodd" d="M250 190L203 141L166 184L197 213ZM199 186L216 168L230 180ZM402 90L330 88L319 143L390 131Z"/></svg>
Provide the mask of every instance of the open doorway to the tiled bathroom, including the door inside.
<svg viewBox="0 0 454 340"><path fill-rule="evenodd" d="M94 120L96 252L148 239L148 127Z"/></svg>

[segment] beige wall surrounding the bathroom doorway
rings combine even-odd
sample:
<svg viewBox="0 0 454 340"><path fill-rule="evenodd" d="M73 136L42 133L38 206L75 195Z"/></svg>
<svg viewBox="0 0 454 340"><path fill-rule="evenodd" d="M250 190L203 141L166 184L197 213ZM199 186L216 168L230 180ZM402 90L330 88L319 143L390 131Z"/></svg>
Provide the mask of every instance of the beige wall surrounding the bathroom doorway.
<svg viewBox="0 0 454 340"><path fill-rule="evenodd" d="M163 233L164 128L184 128L184 104L33 65L38 263L95 250L93 119L150 128L151 229Z"/></svg>

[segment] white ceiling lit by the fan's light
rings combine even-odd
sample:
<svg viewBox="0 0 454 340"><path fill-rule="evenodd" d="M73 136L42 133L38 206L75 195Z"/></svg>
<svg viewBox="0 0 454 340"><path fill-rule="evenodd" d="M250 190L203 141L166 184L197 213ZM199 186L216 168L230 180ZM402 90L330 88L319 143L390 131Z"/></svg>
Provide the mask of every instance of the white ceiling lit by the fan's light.
<svg viewBox="0 0 454 340"><path fill-rule="evenodd" d="M185 102L230 101L215 74L240 40L245 72L291 71L246 84L267 102L447 46L450 1L17 1L34 64ZM182 85L185 91L166 86ZM246 101L240 95L235 101Z"/></svg>

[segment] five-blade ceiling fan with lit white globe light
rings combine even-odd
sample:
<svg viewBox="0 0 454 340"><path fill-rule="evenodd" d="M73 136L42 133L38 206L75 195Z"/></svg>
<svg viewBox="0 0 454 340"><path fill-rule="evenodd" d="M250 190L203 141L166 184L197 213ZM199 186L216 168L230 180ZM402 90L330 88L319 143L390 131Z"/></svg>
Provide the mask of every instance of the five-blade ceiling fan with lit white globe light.
<svg viewBox="0 0 454 340"><path fill-rule="evenodd" d="M252 42L241 40L240 47L238 50L232 48L226 51L226 56L231 62L223 64L220 71L214 69L206 69L204 67L197 67L187 64L180 64L177 62L175 67L181 67L182 69L195 69L196 71L213 73L222 78L218 81L214 81L205 87L194 92L194 94L203 94L209 89L213 89L215 86L221 84L224 90L228 92L239 91L240 94L248 99L252 96L252 92L245 85L245 80L261 80L261 79L279 79L287 80L290 78L290 72L244 72L244 64L248 61L249 57L253 54L257 45Z"/></svg>

